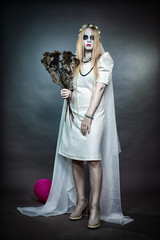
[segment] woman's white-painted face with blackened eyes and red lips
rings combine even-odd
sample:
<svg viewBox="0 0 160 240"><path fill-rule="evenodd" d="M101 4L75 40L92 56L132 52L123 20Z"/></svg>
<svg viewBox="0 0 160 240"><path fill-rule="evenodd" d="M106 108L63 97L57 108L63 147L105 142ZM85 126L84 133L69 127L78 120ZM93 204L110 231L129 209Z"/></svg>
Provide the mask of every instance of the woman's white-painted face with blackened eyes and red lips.
<svg viewBox="0 0 160 240"><path fill-rule="evenodd" d="M93 30L90 28L86 28L83 35L83 43L85 50L92 50L94 45L94 35Z"/></svg>

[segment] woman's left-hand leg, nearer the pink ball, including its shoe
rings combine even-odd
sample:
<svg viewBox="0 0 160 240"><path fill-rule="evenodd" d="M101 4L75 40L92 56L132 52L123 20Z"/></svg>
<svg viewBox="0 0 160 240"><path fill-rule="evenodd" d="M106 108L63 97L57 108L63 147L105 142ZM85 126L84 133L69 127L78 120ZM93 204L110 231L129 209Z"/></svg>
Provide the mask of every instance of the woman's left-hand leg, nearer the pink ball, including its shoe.
<svg viewBox="0 0 160 240"><path fill-rule="evenodd" d="M78 220L82 214L88 215L88 200L85 198L85 171L83 161L72 160L73 179L77 190L77 205L70 215L71 220Z"/></svg>

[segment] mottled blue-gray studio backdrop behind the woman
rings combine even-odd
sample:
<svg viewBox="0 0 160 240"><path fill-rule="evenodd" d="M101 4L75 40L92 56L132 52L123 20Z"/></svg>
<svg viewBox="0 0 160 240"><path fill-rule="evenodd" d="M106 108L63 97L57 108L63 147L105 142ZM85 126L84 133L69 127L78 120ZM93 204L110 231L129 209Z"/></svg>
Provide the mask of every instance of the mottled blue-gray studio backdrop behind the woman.
<svg viewBox="0 0 160 240"><path fill-rule="evenodd" d="M27 191L38 179L51 179L63 100L60 87L52 83L40 60L45 51L75 52L79 29L93 22L115 62L122 192L158 193L157 6L122 1L7 1L1 17L2 187Z"/></svg>

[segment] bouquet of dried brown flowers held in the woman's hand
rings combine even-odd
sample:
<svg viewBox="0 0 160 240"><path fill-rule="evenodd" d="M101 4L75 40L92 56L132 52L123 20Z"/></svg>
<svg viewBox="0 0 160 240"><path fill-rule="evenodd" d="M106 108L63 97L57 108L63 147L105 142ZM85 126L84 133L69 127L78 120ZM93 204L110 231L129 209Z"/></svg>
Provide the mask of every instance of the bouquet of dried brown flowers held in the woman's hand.
<svg viewBox="0 0 160 240"><path fill-rule="evenodd" d="M61 88L67 88L73 91L74 70L79 64L79 60L70 51L45 52L41 63L51 75L52 81ZM70 107L70 98L67 98L66 116L69 111L70 122L74 121L74 116Z"/></svg>

